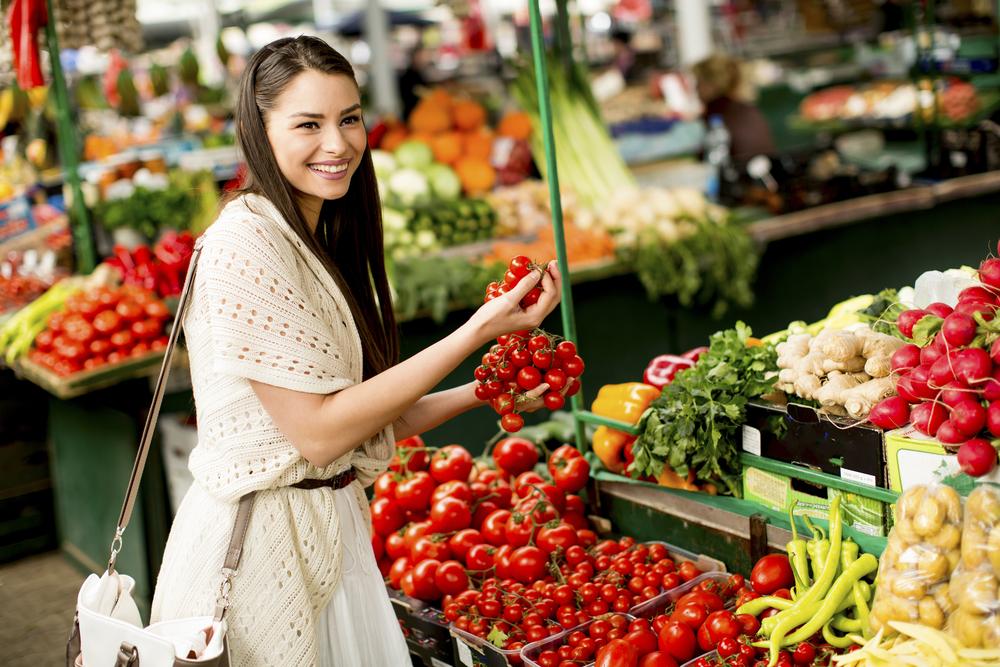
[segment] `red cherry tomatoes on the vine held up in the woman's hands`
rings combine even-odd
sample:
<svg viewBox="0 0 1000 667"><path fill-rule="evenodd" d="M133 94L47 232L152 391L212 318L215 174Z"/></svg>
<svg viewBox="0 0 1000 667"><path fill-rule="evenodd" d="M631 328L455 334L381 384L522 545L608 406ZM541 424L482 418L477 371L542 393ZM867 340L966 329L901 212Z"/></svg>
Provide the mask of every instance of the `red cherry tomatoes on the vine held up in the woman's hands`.
<svg viewBox="0 0 1000 667"><path fill-rule="evenodd" d="M542 269L524 255L518 255L501 282L490 283L485 301L506 293L533 271ZM542 294L541 287L533 287L522 299L521 306L536 303ZM541 329L515 331L497 337L497 342L483 355L483 363L475 370L476 398L488 402L500 415L500 425L508 433L515 433L524 426L518 408L527 399L525 394L540 384L548 389L542 396L545 407L559 410L566 397L580 391L579 377L583 374L583 359L577 354L576 344L548 334Z"/></svg>

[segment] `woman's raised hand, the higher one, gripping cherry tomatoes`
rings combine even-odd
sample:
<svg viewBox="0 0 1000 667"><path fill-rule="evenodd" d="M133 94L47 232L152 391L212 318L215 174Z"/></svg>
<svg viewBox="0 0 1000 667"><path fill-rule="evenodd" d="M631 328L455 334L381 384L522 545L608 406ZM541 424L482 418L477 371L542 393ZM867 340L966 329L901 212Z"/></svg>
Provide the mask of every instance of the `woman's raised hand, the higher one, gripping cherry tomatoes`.
<svg viewBox="0 0 1000 667"><path fill-rule="evenodd" d="M538 302L527 308L521 307L521 299L541 281L542 295ZM483 343L497 336L534 329L559 304L562 295L562 276L556 262L549 262L544 270L536 270L521 279L514 289L487 301L471 318L468 325L473 328Z"/></svg>

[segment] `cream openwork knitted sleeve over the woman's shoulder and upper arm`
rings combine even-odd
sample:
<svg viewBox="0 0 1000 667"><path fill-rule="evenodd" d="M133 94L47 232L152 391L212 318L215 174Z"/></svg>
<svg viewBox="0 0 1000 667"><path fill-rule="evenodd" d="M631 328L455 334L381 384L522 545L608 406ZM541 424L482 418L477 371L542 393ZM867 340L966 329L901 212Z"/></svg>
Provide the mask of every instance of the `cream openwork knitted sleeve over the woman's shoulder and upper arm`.
<svg viewBox="0 0 1000 667"><path fill-rule="evenodd" d="M202 242L197 283L215 371L308 393L343 389L353 383L349 346L323 320L295 250L271 224L224 217Z"/></svg>

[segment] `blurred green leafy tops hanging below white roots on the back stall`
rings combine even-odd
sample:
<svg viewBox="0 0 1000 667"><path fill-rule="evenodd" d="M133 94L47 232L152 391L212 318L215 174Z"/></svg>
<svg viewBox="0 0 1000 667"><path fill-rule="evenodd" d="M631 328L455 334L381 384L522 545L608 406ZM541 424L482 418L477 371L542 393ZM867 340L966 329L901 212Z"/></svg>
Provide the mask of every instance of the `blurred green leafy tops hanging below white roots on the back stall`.
<svg viewBox="0 0 1000 667"><path fill-rule="evenodd" d="M730 306L750 306L760 260L753 239L732 221L690 222L691 234L665 240L649 230L624 251L649 298L674 296L685 307L711 303L714 317Z"/></svg>

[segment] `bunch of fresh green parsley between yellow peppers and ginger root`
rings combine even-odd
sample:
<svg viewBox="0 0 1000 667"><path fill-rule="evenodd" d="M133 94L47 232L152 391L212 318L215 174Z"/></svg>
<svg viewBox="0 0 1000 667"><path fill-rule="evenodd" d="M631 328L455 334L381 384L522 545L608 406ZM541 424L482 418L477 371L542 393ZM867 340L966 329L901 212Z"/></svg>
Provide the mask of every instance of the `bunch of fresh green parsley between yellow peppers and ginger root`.
<svg viewBox="0 0 1000 667"><path fill-rule="evenodd" d="M749 399L771 391L777 355L748 346L750 327L738 322L714 334L694 367L681 371L639 422L632 452L639 475L658 476L667 464L681 477L740 495L738 433Z"/></svg>

